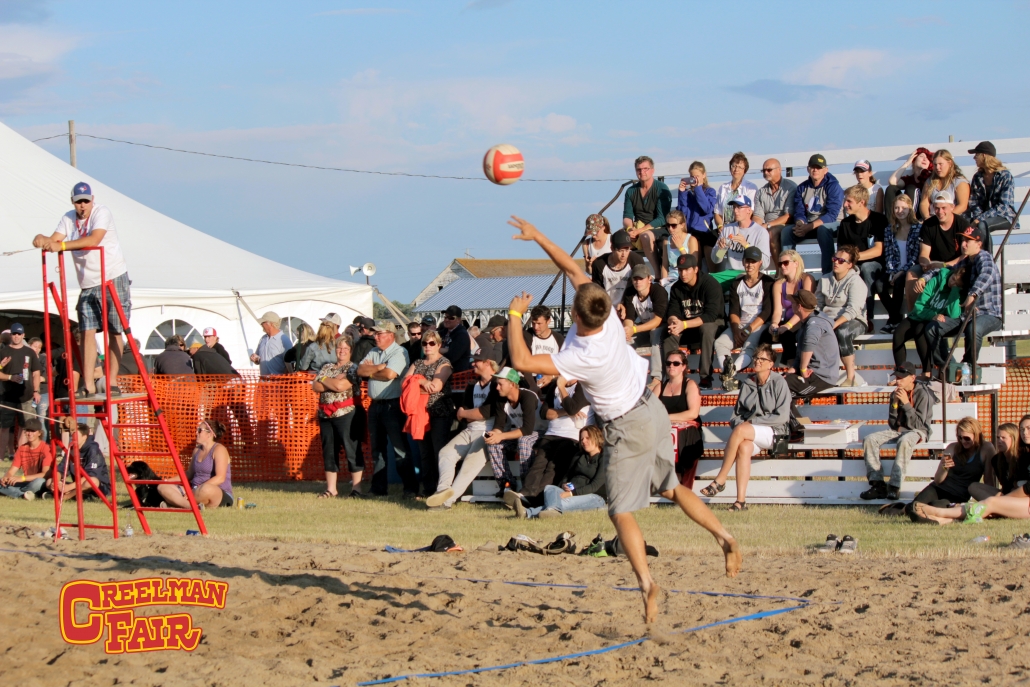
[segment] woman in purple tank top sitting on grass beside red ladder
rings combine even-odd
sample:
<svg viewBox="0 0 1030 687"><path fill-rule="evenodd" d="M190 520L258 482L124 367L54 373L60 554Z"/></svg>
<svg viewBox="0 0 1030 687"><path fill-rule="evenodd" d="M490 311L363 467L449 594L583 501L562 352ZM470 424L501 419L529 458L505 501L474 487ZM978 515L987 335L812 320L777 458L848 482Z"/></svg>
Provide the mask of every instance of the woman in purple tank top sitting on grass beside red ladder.
<svg viewBox="0 0 1030 687"><path fill-rule="evenodd" d="M197 448L186 469L186 479L197 505L202 508L229 508L234 503L229 450L218 443L225 434L226 425L217 420L201 420L197 425ZM190 508L186 490L178 484L159 484L158 492L172 508Z"/></svg>

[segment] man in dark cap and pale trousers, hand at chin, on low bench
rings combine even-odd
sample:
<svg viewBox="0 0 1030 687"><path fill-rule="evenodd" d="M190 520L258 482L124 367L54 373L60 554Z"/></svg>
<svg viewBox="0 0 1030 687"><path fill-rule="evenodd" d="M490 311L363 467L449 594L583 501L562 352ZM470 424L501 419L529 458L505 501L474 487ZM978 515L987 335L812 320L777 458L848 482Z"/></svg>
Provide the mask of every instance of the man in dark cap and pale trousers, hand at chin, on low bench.
<svg viewBox="0 0 1030 687"><path fill-rule="evenodd" d="M912 363L902 363L894 369L894 386L887 416L890 428L871 434L862 442L865 472L869 478L869 488L859 494L864 501L897 501L913 452L920 442L927 441L930 436L933 404L937 401L930 385L917 381L916 368ZM880 447L895 440L897 455L888 484L884 482L881 470Z"/></svg>

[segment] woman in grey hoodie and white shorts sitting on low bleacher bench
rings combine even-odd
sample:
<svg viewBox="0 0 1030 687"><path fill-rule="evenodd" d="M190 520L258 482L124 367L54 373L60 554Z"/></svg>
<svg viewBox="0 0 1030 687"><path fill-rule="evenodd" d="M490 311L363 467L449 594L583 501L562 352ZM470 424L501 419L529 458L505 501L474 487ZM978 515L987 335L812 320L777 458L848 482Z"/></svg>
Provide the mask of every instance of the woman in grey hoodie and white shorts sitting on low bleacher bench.
<svg viewBox="0 0 1030 687"><path fill-rule="evenodd" d="M729 469L735 462L736 501L730 506L731 511L748 510L751 458L762 449L771 449L777 435L787 434L790 388L780 373L772 372L774 357L772 347L768 344L759 345L755 351L755 374L741 382L741 393L736 397L736 407L729 419L733 432L726 442L722 469L712 484L701 489L701 494L710 499L725 489Z"/></svg>

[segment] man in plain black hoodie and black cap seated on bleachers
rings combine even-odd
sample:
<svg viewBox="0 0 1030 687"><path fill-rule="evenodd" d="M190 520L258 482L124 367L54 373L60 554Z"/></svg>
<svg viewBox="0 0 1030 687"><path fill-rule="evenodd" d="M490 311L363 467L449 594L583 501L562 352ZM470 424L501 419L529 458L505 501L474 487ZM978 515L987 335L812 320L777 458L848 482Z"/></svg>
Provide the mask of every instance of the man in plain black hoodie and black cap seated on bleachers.
<svg viewBox="0 0 1030 687"><path fill-rule="evenodd" d="M722 287L712 275L701 274L697 256L680 255L676 261L680 279L670 289L667 322L668 336L662 343L662 359L680 346L700 343L700 387L712 388L712 354L715 338L725 324L725 305Z"/></svg>

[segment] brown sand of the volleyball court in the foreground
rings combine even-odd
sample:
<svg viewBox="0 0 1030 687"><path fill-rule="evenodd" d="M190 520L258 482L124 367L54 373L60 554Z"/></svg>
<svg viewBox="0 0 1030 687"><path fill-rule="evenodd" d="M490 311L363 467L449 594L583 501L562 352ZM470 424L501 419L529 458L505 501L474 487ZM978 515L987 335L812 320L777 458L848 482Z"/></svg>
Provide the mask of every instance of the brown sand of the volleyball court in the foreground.
<svg viewBox="0 0 1030 687"><path fill-rule="evenodd" d="M6 530L6 534L4 534ZM167 535L85 542L26 539L0 527L0 590L8 599L5 681L40 685L355 684L589 651L650 633L617 652L497 673L419 680L435 685L846 685L1030 681L1025 555L997 558L749 557L663 553L665 590L801 596L811 606L691 634L677 630L783 602L664 593L648 628L628 563L476 550L389 554L371 547ZM73 557L33 555L71 553ZM83 555L97 554L97 555ZM193 653L105 655L60 636L58 596L71 580L148 576L224 580L225 610L191 609ZM586 584L521 587L452 578ZM173 607L137 615L170 613ZM16 682L15 682L16 681Z"/></svg>

